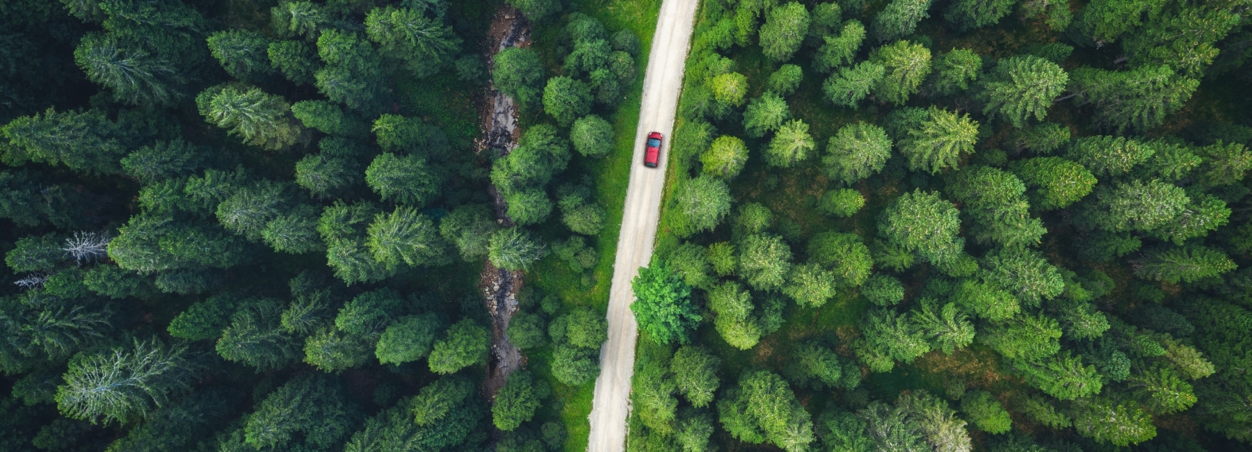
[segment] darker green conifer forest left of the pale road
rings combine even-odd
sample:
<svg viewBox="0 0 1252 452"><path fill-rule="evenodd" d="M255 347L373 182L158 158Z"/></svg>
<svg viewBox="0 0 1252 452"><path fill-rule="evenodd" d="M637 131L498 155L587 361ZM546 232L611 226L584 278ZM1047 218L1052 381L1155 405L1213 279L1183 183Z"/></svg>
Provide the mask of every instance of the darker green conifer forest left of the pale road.
<svg viewBox="0 0 1252 452"><path fill-rule="evenodd" d="M0 4L0 449L585 448L659 1L582 4Z"/></svg>

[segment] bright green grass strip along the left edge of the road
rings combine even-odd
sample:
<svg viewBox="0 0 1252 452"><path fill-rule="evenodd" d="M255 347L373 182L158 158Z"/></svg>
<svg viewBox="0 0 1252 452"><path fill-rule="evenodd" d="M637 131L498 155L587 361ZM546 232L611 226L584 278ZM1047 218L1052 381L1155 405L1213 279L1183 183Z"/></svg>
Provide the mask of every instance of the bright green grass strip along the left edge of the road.
<svg viewBox="0 0 1252 452"><path fill-rule="evenodd" d="M578 0L576 5L578 13L596 18L605 24L610 33L629 29L639 36L640 51L635 59L636 76L617 110L606 118L613 124L613 150L600 159L576 157L566 173L571 178L581 174L590 174L595 178L596 198L606 212L605 229L592 242L600 254L600 262L591 269L590 277L586 277L571 270L565 262L555 255L550 255L540 260L531 272L527 272L525 284L533 284L543 293L561 297L566 307L588 306L603 312L608 306L608 288L612 283L617 235L621 228L622 208L626 203L626 185L630 182L647 53L652 45L652 33L656 29L661 1ZM561 19L550 19L547 23L538 24L532 33L533 48L542 55L550 74L560 69L556 55L561 50L557 49L557 45L563 33L563 25L565 21ZM533 114L526 115L522 118L522 125L540 123L543 119ZM547 238L568 234L565 225L556 218L543 224L541 229L541 233ZM528 359L532 362L547 362L550 357L551 349L547 348L528 353ZM581 387L568 387L558 383L547 366L531 366L530 368L548 379L553 388L553 398L557 401L552 407L545 407L540 418L560 418L568 432L565 449L570 452L586 451L587 436L591 431L587 417L591 414L595 386L588 383Z"/></svg>

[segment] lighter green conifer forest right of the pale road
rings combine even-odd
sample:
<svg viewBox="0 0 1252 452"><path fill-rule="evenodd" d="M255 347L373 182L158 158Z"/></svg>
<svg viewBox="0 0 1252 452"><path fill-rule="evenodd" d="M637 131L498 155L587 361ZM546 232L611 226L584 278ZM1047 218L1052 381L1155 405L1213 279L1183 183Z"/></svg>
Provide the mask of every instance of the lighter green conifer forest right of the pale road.
<svg viewBox="0 0 1252 452"><path fill-rule="evenodd" d="M1248 449L1249 6L702 1L627 449Z"/></svg>

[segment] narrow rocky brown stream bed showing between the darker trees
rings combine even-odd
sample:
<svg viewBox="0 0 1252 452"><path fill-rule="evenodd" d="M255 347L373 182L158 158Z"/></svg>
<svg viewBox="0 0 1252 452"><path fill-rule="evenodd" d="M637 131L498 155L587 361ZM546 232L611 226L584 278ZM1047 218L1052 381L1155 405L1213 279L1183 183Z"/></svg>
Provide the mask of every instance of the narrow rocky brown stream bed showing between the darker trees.
<svg viewBox="0 0 1252 452"><path fill-rule="evenodd" d="M526 46L530 40L530 21L516 9L503 5L496 10L483 45L483 56L491 61L496 53L510 46ZM490 65L491 63L488 63ZM480 109L483 138L476 143L478 153L490 152L507 155L520 136L517 129L517 108L513 99L487 83L487 96ZM512 224L507 215L503 197L491 187L497 222ZM480 289L491 314L491 362L487 364L487 378L483 381L483 393L491 399L496 391L505 386L505 378L521 368L525 362L522 352L508 342L508 321L517 311L517 289L522 284L522 272L508 272L487 262L482 269Z"/></svg>

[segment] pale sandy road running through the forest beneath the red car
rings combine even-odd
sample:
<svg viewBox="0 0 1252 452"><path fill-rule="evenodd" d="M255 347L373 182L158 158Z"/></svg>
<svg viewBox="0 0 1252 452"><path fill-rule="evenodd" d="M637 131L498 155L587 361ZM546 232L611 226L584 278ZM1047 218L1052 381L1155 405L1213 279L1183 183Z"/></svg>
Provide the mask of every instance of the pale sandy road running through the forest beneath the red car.
<svg viewBox="0 0 1252 452"><path fill-rule="evenodd" d="M600 349L600 377L596 378L591 408L591 437L587 449L616 452L626 447L626 414L630 411L630 378L635 372L637 327L630 311L635 293L630 282L639 268L652 258L656 225L661 219L661 192L670 153L674 115L682 88L682 68L691 44L699 0L664 0L652 49L644 75L644 98L635 130L635 157L626 188L613 280L608 289L608 341ZM650 131L665 135L661 167L644 167L644 145Z"/></svg>

